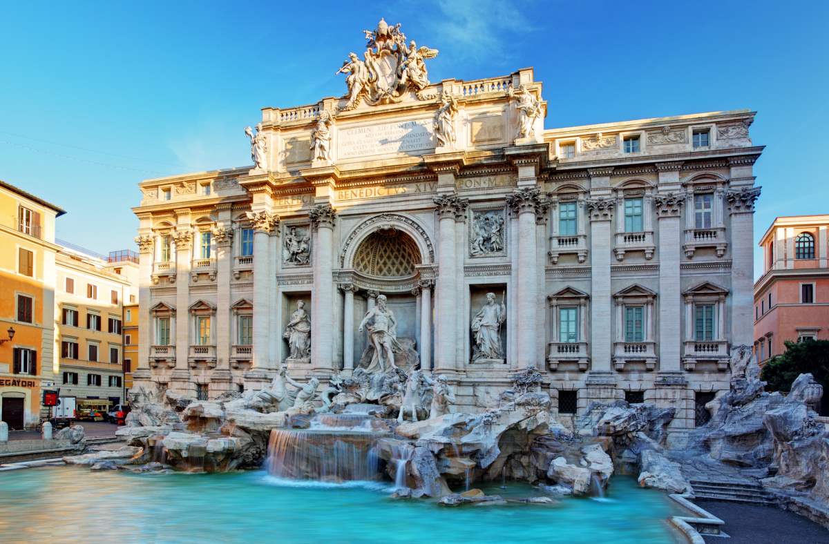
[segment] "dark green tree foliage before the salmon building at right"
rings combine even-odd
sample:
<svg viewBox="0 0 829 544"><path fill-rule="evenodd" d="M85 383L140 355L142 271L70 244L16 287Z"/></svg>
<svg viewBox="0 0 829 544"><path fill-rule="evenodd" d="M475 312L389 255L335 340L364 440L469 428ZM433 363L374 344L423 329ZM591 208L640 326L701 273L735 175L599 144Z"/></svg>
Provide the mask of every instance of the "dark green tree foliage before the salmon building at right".
<svg viewBox="0 0 829 544"><path fill-rule="evenodd" d="M766 391L788 392L803 373L812 373L815 381L829 392L829 340L786 342L785 353L764 365L760 379L767 382Z"/></svg>

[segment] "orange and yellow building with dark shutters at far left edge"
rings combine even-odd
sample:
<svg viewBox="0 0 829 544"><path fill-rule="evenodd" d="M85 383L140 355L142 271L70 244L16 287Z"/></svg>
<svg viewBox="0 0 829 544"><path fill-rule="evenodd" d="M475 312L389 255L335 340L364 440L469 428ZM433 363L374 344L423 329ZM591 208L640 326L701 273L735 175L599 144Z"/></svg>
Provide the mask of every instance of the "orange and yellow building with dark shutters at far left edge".
<svg viewBox="0 0 829 544"><path fill-rule="evenodd" d="M55 385L55 219L64 210L0 181L0 416L34 427Z"/></svg>

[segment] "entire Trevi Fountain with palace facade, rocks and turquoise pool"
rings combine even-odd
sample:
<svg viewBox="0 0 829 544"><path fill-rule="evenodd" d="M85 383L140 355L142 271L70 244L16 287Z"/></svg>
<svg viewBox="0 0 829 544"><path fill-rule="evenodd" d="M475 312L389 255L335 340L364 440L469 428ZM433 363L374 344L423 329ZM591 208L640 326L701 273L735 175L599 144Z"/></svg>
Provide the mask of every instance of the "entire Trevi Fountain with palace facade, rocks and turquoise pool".
<svg viewBox="0 0 829 544"><path fill-rule="evenodd" d="M682 334L681 296L712 301L717 311L729 305L731 315L730 305L737 303L726 298L729 285L745 289L743 280L730 280L726 271L710 282L691 282L687 289L683 283L686 291L680 291L678 265L674 279L664 272L663 282L667 259L674 253L680 258L679 238L671 242L670 233L679 232L683 199L692 199L696 189L689 185L687 195L668 198L652 195L647 184L618 186L619 199L647 194L646 203L657 206L662 231L654 257L653 210L646 206L646 224L639 228L645 232L636 237L617 233L614 239L622 245L608 245L617 197L610 196L611 175L599 170L612 161L610 146L617 134L578 136L581 152L597 152L597 170L584 176L592 176L599 196L585 200L583 190L570 185L564 192L545 193L538 185L549 189L581 178L546 170L555 161L538 161L539 149L546 154L551 140L542 134L545 103L531 71L475 85L433 84L426 63L437 50L407 41L400 25L383 21L366 37L365 55L351 53L338 70L347 76L345 96L325 99L308 111L277 112L284 123L296 122L308 131L309 137L299 141L303 150L274 139L274 118L245 131L254 167L238 181L222 174L214 183L220 195L230 190L242 196L239 184L247 184L255 197L253 210L237 219L232 215L236 204L216 208L220 224L196 219L193 233L182 229L189 216L179 216L177 226L157 227L150 223L156 220L152 210L139 213L137 241L146 273L142 339L150 337L151 323L170 327L178 315L182 323L206 323L205 331L216 319L217 329L200 333L216 340L191 345L182 325L172 331L170 344L143 347L129 393L133 409L117 432L123 447L67 456L61 467L4 474L0 497L37 497L41 505L33 514L0 499L7 516L17 512L30 520L17 534L50 537L46 519L70 520L91 507L105 515L97 524L61 522L65 536L96 542L105 524L108 540L124 542L701 542L701 534L719 533L723 522L691 502L695 486L748 473L763 483L764 493L776 492L781 502L799 505L792 508L801 512L811 508L810 515L820 518L829 496L824 469L829 435L813 412L821 392L811 375L798 378L786 397L764 392L750 348L739 342L745 336L739 324L720 325L715 340L705 344L707 355L692 350L682 366L679 352L671 351ZM430 161L436 185L429 181L432 174L421 180L421 172L411 175L411 186L401 178L393 186L361 188L354 182L350 189L338 189L337 176L347 171L342 166L337 173L338 161L361 156L365 149L354 141L335 145L337 130L344 138L350 115L405 107L427 108L433 116L428 123L413 123L403 142L417 151L405 153L406 161ZM464 108L492 111L474 118ZM466 121L459 123L462 117ZM725 153L749 146L750 121L726 115L715 122L728 128L720 133ZM676 156L679 148L673 147L686 142L686 128L665 123L647 132L651 147L646 154L658 154L664 145ZM478 132L468 133L468 126ZM353 140L357 132L348 130ZM423 142L417 139L421 136ZM566 142L576 138L564 136ZM499 144L502 137L509 142ZM504 174L509 168L503 167L499 145L511 154L509 168L517 168L517 181ZM555 143L554 152L560 145ZM386 142L366 146L374 152L388 147ZM274 158L276 147L279 156L289 159L293 153L313 166L301 172L313 187L297 193L298 200L292 200L293 182L288 181L296 171ZM431 151L435 154L422 156ZM376 167L388 171L400 167L392 159L377 161ZM476 185L473 178L456 176L476 164L479 171L473 174L489 176L485 171L490 169L487 179L497 181L476 189L478 196L495 195L501 205L478 205L469 193L471 205L461 198L465 183ZM681 167L671 168L654 169L653 176L679 190ZM663 180L663 172L674 181ZM750 173L740 176L753 179L745 177ZM750 244L750 212L759 190L729 189L722 176L715 179L718 205L727 201L730 206L728 228L745 237L737 243ZM188 183L174 185L175 199L189 198ZM257 183L275 183L279 190L280 183L288 185L284 193L274 189L266 200L257 200L270 191L255 189ZM163 190L156 185L145 182L144 194ZM419 198L423 191L428 199L407 205L424 205L423 217L429 218L437 207L440 228L434 244L432 224L405 213L347 219L351 193L371 200ZM286 219L280 229L279 217L261 209L278 205L280 194L288 195L286 205L304 209L298 213L310 224ZM308 210L308 195L316 195L314 202L333 195L342 209L336 212L328 204ZM154 196L146 198L144 205L159 205ZM546 229L545 214L554 213L551 204L555 228L572 230L535 238ZM748 231L738 232L747 212ZM358 225L351 237L387 248L387 253L363 256L371 261L369 272L349 268L356 245L344 247L337 258L341 268L332 269L337 214L342 225ZM569 224L566 214L578 219ZM242 253L225 268L221 259L235 248L237 222L243 228L254 225L256 258L245 261ZM589 243L585 224L592 224ZM187 272L191 259L182 251L194 235L211 243L206 233L219 248L218 264L193 260ZM239 243L241 235L236 236ZM172 237L179 253L172 272L169 262L152 261L154 244L165 237ZM555 246L545 245L549 240ZM686 253L696 252L687 269L709 259L712 269L720 270L717 259L728 244L720 238L716 243L721 247L686 246ZM400 253L413 255L414 262L393 262ZM611 269L611 255L623 264ZM748 255L750 269L750 250ZM583 265L588 257L593 260ZM639 268L656 267L652 258L663 259L652 288L646 280L640 285L624 279ZM738 258L734 254L732 266ZM250 262L252 267L246 267ZM534 272L539 262L545 275ZM604 276L597 272L603 263ZM579 272L589 274L591 266L592 277ZM388 279L384 267L397 267L391 272L404 279ZM267 282L274 272L279 289ZM336 291L332 274L339 278ZM563 284L554 289L545 282ZM750 311L750 279L747 285ZM250 288L251 294L241 294L233 304L235 290ZM657 293L660 288L664 291ZM555 294L544 296L541 289ZM208 296L211 292L218 292L216 298ZM676 295L676 306L659 309L667 319L657 330L654 300L667 292ZM245 333L228 325L230 315L239 323L249 323L242 318L252 315L252 341L235 339ZM644 330L619 330L628 320L643 321ZM642 394L627 397L628 389ZM573 409L565 410L565 392L576 391ZM701 408L710 421L696 428L689 416L695 391L712 392ZM61 433L84 440L80 426ZM79 470L88 472L78 478Z"/></svg>

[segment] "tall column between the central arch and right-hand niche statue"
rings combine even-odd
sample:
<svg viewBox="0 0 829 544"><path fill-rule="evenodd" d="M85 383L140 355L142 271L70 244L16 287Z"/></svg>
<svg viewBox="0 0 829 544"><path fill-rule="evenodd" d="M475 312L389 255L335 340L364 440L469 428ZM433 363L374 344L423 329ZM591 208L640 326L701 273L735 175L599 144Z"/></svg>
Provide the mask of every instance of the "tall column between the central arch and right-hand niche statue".
<svg viewBox="0 0 829 544"><path fill-rule="evenodd" d="M454 371L455 323L457 319L458 292L455 272L455 208L456 195L442 195L434 199L438 206L438 293L437 293L437 349L435 369L438 372Z"/></svg>

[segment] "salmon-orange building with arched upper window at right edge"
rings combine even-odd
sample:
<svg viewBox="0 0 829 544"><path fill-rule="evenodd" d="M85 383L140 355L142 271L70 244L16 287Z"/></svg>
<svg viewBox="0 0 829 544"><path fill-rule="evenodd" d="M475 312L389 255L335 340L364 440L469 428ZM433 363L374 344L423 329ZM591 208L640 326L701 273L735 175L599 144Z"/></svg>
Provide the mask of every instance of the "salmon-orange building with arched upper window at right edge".
<svg viewBox="0 0 829 544"><path fill-rule="evenodd" d="M829 339L829 215L778 217L760 239L754 353L762 364L787 340Z"/></svg>

